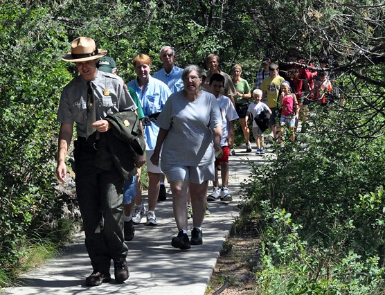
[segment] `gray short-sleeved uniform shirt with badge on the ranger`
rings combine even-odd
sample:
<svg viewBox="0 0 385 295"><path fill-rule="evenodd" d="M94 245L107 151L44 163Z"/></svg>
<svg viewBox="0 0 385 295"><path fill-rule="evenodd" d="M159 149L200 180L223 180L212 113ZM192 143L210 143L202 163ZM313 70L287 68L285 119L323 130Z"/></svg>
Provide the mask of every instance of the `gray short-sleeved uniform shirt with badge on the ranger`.
<svg viewBox="0 0 385 295"><path fill-rule="evenodd" d="M96 120L118 111L137 109L134 100L123 88L123 80L118 75L98 71L93 83L95 95ZM85 137L87 130L87 81L78 75L63 89L60 97L57 120L60 123L76 123L78 136Z"/></svg>

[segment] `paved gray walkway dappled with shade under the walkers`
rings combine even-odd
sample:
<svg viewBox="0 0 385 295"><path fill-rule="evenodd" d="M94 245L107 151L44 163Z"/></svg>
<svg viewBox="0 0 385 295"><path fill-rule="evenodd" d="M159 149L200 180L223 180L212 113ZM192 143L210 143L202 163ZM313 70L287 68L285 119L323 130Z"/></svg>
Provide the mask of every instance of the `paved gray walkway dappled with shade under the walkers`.
<svg viewBox="0 0 385 295"><path fill-rule="evenodd" d="M244 150L244 147L236 149L236 155L229 159L229 188L233 202L210 203L211 215L205 217L202 226L203 245L193 246L188 251L171 247L171 239L177 235L177 226L168 191L167 200L160 202L156 208L159 225L149 227L139 224L134 240L128 242L130 276L124 284L118 285L112 280L98 287L84 285L84 278L91 274L91 265L84 247L84 235L79 233L65 247L64 253L29 271L21 278L19 287L4 289L1 294L204 295L222 243L238 216L240 183L249 176L247 161L263 163L267 157L255 155L254 145L253 152L246 153ZM111 265L112 276L113 273L114 266Z"/></svg>

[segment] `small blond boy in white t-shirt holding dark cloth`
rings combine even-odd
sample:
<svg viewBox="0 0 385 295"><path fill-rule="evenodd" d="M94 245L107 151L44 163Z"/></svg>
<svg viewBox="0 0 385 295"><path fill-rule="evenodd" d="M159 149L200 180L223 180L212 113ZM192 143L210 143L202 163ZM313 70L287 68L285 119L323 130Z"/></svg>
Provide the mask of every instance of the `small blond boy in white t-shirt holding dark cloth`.
<svg viewBox="0 0 385 295"><path fill-rule="evenodd" d="M264 102L260 101L262 99L262 90L255 89L253 91L253 98L254 98L254 102L249 105L249 108L247 109L246 117L244 118L246 120L246 122L247 122L247 120L249 120L249 117L257 118L258 116L260 116L260 114L263 111L268 111L269 114L271 114L271 109L269 107L267 107L267 105ZM252 116L250 116L250 114ZM267 120L267 122L268 122L268 120ZM268 124L266 126L266 129L267 129L267 127L269 127ZM261 127L258 127L256 120L253 120L253 135L254 135L254 138L256 138L256 144L257 144L256 154L264 154L265 153L265 150L263 149L263 132L265 130L263 130L263 129L264 129L263 127L262 127L262 129L261 129Z"/></svg>

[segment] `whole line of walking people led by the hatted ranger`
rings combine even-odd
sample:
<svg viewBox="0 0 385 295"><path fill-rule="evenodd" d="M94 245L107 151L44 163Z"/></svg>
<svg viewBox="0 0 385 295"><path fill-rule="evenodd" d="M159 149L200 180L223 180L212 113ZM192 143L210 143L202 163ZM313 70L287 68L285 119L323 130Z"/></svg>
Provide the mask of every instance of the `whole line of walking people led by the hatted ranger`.
<svg viewBox="0 0 385 295"><path fill-rule="evenodd" d="M136 55L132 62L136 79L125 83L117 75L114 59L96 48L91 38L74 39L71 52L62 57L75 63L79 75L64 87L60 98L56 175L66 181L65 159L75 125L76 193L93 267L86 278L89 286L111 280L111 260L116 282L127 280L125 240L134 238L134 224L141 223L143 216L147 226L157 225L155 209L165 199L164 177L170 184L178 229L172 247L185 250L202 244L207 201L232 199L228 180L235 121L240 121L247 152L251 152L248 120L253 118L257 153L262 154L265 130L270 127L276 136L278 103L285 106L281 125L294 127L293 116L298 118L296 93L291 93L290 83L269 61L262 63L263 72L258 73L262 82L251 92L241 78L242 67L235 64L231 78L220 69L218 55L207 56L207 72L196 65L176 66L170 46L161 48L160 59L162 69L151 75L151 58ZM258 121L262 114L267 119ZM144 164L148 209L141 193ZM209 181L213 181L213 193L207 196ZM193 209L190 238L188 204Z"/></svg>

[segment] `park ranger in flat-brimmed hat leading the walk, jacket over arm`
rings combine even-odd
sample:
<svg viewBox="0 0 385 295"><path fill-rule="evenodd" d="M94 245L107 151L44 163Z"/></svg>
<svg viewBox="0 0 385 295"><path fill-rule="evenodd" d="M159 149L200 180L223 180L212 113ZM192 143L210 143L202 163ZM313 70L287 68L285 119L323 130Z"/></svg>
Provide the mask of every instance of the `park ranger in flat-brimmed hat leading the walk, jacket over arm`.
<svg viewBox="0 0 385 295"><path fill-rule="evenodd" d="M64 87L57 113L61 125L56 175L61 182L66 181L64 160L74 123L78 136L74 141L75 184L85 245L93 267L91 276L86 278L89 286L111 280L111 260L116 283L129 277L128 249L123 236L123 182L134 169L134 151L116 136L118 132L114 132L111 122L115 115L121 119L122 114L134 114L136 105L124 91L120 77L96 68L98 58L106 54L107 51L96 48L91 38L73 40L71 53L62 56L62 60L74 62L79 75ZM127 119L122 124L132 127ZM118 159L119 153L125 159Z"/></svg>

